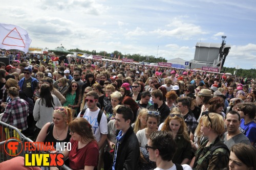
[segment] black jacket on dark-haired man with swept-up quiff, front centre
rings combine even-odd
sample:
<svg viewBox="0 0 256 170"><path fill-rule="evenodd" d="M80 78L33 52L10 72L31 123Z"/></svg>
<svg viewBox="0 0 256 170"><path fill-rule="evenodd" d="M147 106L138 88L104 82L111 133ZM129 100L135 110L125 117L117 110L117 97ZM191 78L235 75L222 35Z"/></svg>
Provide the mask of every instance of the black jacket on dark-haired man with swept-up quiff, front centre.
<svg viewBox="0 0 256 170"><path fill-rule="evenodd" d="M138 169L140 148L139 148L138 138L135 135L132 127L130 127L125 133L124 139L121 142L119 142L118 148L116 143L115 150L116 149L117 149L116 164L115 164L116 170Z"/></svg>

